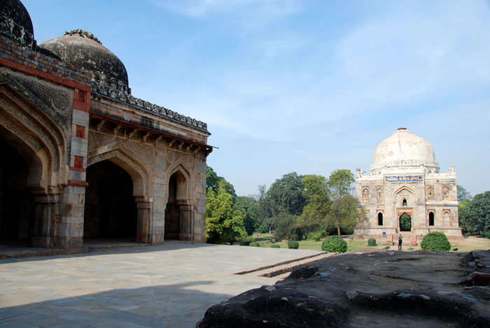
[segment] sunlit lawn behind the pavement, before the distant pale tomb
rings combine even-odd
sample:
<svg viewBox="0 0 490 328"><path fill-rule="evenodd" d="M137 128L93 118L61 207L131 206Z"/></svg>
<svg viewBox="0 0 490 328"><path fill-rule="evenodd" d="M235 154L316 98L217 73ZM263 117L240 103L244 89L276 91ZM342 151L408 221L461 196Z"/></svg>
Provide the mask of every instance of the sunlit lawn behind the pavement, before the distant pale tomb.
<svg viewBox="0 0 490 328"><path fill-rule="evenodd" d="M270 247L272 245L272 234L257 234L253 235L257 241L260 242L260 247ZM367 240L354 240L352 236L342 236L347 242L347 251L349 250L384 250L386 248L385 239L377 239L376 246L368 246ZM300 241L300 250L321 250L321 241ZM489 238L476 238L475 236L465 236L462 241L449 241L452 248L458 248L458 252L469 252L470 250L489 250L490 249L490 239ZM281 248L288 248L288 243L283 241L277 242L276 244L281 245ZM416 246L409 245L409 243L404 243L403 250L420 250L420 244ZM390 250L397 250L398 245L391 246Z"/></svg>

